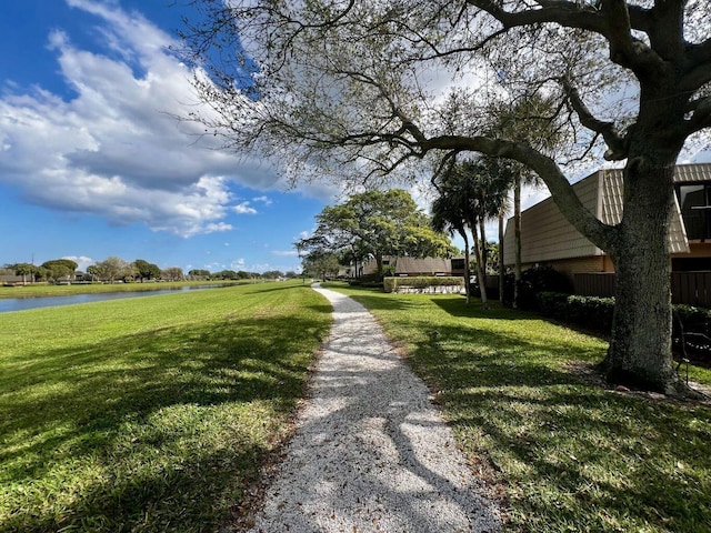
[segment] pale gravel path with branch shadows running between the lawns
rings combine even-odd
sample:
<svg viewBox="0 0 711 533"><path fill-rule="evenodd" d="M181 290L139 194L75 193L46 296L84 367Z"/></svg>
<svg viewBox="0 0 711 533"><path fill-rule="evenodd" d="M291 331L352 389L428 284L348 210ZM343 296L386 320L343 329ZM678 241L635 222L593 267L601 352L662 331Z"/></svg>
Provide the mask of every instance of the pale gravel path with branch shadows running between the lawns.
<svg viewBox="0 0 711 533"><path fill-rule="evenodd" d="M251 532L493 532L424 384L359 303L314 286L336 322Z"/></svg>

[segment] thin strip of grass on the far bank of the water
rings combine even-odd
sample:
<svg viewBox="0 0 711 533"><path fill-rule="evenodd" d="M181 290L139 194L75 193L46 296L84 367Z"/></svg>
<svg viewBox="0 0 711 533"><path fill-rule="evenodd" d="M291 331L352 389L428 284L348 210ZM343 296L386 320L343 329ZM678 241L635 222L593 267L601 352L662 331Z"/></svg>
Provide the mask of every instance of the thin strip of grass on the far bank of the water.
<svg viewBox="0 0 711 533"><path fill-rule="evenodd" d="M73 285L54 285L37 283L29 285L0 286L0 299L33 298L33 296L68 296L71 294L92 294L101 292L139 292L166 291L199 285L230 285L238 283L254 283L253 281L162 281L134 283L78 283Z"/></svg>

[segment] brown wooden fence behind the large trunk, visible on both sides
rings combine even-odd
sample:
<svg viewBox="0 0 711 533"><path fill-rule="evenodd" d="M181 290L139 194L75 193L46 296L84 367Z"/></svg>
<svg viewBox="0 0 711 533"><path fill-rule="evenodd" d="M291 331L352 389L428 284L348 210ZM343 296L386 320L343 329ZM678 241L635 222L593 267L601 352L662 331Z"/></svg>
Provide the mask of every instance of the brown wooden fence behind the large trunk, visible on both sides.
<svg viewBox="0 0 711 533"><path fill-rule="evenodd" d="M590 272L574 274L575 294L613 296L614 273ZM672 272L671 300L699 308L711 308L711 271Z"/></svg>

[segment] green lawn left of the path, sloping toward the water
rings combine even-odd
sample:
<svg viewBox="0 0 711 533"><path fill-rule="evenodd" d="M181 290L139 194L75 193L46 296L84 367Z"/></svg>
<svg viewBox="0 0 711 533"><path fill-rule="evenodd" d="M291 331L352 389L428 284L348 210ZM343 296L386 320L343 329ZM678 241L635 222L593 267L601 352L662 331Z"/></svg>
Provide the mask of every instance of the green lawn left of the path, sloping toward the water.
<svg viewBox="0 0 711 533"><path fill-rule="evenodd" d="M0 315L0 531L214 531L330 311L298 282Z"/></svg>

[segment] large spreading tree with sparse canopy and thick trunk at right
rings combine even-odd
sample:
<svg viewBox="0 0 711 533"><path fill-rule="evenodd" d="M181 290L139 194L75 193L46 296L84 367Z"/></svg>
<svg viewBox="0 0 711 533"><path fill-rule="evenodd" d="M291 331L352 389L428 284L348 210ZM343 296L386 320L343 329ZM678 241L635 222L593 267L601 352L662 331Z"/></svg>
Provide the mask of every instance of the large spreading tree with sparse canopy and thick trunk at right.
<svg viewBox="0 0 711 533"><path fill-rule="evenodd" d="M614 262L610 378L681 388L667 245L674 164L711 127L707 0L196 3L204 13L184 37L211 110L191 118L226 147L277 157L299 180L402 175L462 151L519 161ZM563 149L492 132L492 113L535 95L552 112L517 129L544 119ZM624 167L615 225L565 177L603 151Z"/></svg>

